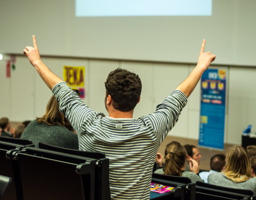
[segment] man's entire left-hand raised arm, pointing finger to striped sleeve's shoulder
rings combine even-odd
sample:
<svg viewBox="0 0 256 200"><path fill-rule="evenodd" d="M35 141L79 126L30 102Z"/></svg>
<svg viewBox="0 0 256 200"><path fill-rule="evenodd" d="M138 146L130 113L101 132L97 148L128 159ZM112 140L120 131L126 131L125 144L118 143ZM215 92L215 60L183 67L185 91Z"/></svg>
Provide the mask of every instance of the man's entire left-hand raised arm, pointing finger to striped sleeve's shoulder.
<svg viewBox="0 0 256 200"><path fill-rule="evenodd" d="M77 94L68 87L67 83L63 82L61 78L52 73L52 71L44 65L41 61L34 35L33 43L34 47L26 46L23 52L27 55L29 61L36 68L46 85L52 90L59 102L60 111L65 114L65 117L78 133L85 118L90 116L94 111L85 105Z"/></svg>

